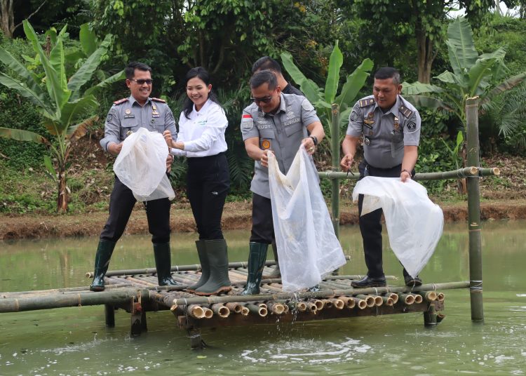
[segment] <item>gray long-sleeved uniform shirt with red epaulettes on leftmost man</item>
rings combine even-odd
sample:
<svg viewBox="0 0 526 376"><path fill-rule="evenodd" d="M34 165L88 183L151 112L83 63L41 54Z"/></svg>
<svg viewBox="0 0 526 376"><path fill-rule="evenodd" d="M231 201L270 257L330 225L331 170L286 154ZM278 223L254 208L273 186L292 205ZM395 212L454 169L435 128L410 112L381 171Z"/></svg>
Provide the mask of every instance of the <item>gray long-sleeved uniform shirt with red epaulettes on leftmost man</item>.
<svg viewBox="0 0 526 376"><path fill-rule="evenodd" d="M166 103L156 98L148 98L144 106L141 106L130 95L130 98L117 100L109 109L100 146L108 151L110 142L119 144L128 137L128 131L136 132L141 127L159 133L170 130L173 139L177 139L175 119Z"/></svg>

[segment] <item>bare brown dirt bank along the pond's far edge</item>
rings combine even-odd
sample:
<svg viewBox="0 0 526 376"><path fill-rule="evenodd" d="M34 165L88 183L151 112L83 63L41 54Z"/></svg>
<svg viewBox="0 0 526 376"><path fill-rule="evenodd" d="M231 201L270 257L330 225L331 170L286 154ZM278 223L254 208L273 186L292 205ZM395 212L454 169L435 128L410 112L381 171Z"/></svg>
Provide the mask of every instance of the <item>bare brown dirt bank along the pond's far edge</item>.
<svg viewBox="0 0 526 376"><path fill-rule="evenodd" d="M137 205L126 234L147 234L146 213ZM441 203L447 222L466 221L467 204ZM223 215L224 229L250 229L250 202L227 203ZM526 219L526 199L491 200L481 203L483 220ZM0 239L46 238L66 236L97 236L100 234L106 212L83 215L2 215L0 216ZM194 217L188 204L174 204L171 213L171 227L175 232L195 231ZM340 215L342 224L358 223L358 208L353 204L342 203Z"/></svg>

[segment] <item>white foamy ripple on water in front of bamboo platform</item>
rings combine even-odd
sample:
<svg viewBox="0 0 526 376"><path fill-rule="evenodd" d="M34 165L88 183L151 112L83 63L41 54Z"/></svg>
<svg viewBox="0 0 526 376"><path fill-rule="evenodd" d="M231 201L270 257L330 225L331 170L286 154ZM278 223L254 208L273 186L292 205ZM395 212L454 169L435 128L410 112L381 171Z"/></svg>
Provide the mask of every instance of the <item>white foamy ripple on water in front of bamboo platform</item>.
<svg viewBox="0 0 526 376"><path fill-rule="evenodd" d="M241 358L252 363L321 364L348 361L371 352L372 347L349 337L341 343L313 339L280 340L269 342L259 349L245 349Z"/></svg>

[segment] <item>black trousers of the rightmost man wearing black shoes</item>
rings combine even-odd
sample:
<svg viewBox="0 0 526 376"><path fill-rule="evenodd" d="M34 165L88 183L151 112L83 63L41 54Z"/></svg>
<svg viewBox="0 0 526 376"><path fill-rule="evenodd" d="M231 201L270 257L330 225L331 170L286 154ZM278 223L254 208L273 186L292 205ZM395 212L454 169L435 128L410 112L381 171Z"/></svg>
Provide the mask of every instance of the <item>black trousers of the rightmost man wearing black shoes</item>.
<svg viewBox="0 0 526 376"><path fill-rule="evenodd" d="M400 177L402 165L393 168L376 168L370 166L365 160L358 165L360 171L360 180L363 177ZM412 172L414 175L414 170ZM371 213L362 215L363 194L358 196L358 215L360 232L363 239L363 253L365 254L365 264L367 265L367 276L378 278L384 276L384 267L382 260L382 209L377 209ZM404 276L407 271L403 270Z"/></svg>

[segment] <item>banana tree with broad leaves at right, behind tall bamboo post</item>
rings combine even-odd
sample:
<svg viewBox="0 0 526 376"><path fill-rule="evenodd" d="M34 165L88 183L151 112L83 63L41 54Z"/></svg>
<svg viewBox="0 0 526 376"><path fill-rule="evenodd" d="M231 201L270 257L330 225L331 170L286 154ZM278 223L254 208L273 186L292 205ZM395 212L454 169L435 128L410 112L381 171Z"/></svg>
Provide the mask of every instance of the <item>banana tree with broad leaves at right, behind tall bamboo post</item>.
<svg viewBox="0 0 526 376"><path fill-rule="evenodd" d="M466 100L478 96L481 112L499 94L519 85L526 72L506 77L504 47L478 55L473 32L465 18L457 18L447 28L447 51L452 71L433 77L429 83L403 83L403 93L414 105L452 112L466 129ZM497 83L499 82L499 83ZM465 138L465 137L464 137Z"/></svg>

